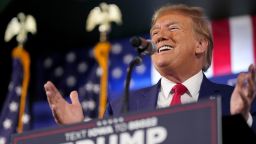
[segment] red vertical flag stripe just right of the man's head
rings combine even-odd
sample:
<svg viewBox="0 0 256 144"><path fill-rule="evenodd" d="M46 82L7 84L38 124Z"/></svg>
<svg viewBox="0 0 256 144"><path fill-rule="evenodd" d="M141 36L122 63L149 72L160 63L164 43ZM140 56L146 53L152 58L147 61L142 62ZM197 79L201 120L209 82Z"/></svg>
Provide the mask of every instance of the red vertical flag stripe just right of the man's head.
<svg viewBox="0 0 256 144"><path fill-rule="evenodd" d="M228 20L213 21L213 74L221 75L231 72L230 35Z"/></svg>

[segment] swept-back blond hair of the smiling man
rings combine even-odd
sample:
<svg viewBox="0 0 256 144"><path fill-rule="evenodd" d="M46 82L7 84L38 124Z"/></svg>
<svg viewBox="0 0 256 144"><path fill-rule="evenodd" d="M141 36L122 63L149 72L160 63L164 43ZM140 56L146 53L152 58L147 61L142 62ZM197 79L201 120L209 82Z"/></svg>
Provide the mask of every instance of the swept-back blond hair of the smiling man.
<svg viewBox="0 0 256 144"><path fill-rule="evenodd" d="M193 29L197 36L206 38L206 40L208 41L208 49L206 51L202 70L207 71L212 62L213 38L212 31L210 29L210 22L208 18L205 16L203 9L199 7L189 7L184 4L166 5L164 7L159 8L154 13L152 17L151 26L155 24L156 20L160 16L168 13L179 13L190 17L193 22Z"/></svg>

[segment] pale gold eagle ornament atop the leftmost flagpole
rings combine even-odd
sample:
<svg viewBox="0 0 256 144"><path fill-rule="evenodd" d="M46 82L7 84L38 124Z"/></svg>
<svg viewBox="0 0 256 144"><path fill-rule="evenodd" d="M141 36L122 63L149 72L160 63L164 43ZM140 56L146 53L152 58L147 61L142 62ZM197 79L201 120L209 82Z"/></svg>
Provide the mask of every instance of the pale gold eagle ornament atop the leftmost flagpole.
<svg viewBox="0 0 256 144"><path fill-rule="evenodd" d="M27 41L28 32L32 34L37 32L36 20L32 15L25 15L20 12L17 17L12 18L8 23L4 40L9 42L16 36L19 47L23 47L23 44Z"/></svg>

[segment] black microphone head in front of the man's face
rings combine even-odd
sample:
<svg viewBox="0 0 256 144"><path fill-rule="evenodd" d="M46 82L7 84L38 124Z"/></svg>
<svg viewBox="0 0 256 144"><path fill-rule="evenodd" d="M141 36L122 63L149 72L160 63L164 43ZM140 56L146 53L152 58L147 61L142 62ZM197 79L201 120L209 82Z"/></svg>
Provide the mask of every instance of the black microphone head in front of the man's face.
<svg viewBox="0 0 256 144"><path fill-rule="evenodd" d="M137 48L139 54L142 55L152 55L156 52L156 45L151 42L151 40L146 40L142 37L134 36L130 39L130 43L133 47Z"/></svg>

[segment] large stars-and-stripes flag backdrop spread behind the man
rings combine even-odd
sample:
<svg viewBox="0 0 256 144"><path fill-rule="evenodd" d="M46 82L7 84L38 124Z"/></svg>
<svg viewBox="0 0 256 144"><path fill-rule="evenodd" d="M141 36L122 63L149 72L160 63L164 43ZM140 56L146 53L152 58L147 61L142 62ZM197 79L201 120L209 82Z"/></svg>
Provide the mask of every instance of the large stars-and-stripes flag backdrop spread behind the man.
<svg viewBox="0 0 256 144"><path fill-rule="evenodd" d="M246 71L256 60L256 17L243 15L214 20L211 26L214 36L213 63L206 75L216 82L234 85L237 74ZM141 36L149 38L148 34ZM137 52L129 38L113 40L111 45L108 96L116 98L123 94L127 67ZM37 96L46 97L43 84L51 80L67 99L71 90L78 90L85 113L91 118L97 117L101 69L92 49L77 48L64 55L55 53L41 57L37 64ZM130 89L150 86L159 78L150 56L145 56L142 64L132 73ZM35 113L42 114L39 110ZM45 115L45 119L51 118L50 113ZM38 119L37 123L43 121Z"/></svg>

